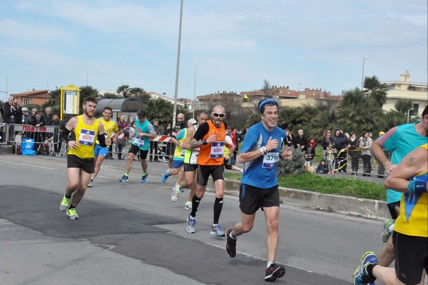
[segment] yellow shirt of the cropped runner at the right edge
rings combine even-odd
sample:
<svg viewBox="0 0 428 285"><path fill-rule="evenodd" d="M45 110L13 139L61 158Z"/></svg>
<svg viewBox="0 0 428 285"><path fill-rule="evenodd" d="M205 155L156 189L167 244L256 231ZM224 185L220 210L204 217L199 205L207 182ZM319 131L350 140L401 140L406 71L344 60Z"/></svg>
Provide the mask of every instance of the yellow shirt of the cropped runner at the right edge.
<svg viewBox="0 0 428 285"><path fill-rule="evenodd" d="M428 144L424 144L424 149L428 150ZM414 176L413 179L427 181L428 169L424 174ZM407 236L428 237L428 194L403 193L399 216L395 221L394 231Z"/></svg>

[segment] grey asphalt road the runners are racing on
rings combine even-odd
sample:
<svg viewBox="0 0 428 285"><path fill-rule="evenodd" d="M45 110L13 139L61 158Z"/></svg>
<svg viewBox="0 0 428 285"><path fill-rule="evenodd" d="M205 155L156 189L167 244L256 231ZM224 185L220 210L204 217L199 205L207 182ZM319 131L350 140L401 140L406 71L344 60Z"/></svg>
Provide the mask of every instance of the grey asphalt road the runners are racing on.
<svg viewBox="0 0 428 285"><path fill-rule="evenodd" d="M240 236L230 259L225 239L210 235L212 192L197 214L196 233L185 231L188 191L170 200L175 177L163 184L163 162L150 162L148 182L133 162L106 160L72 221L59 211L66 159L0 156L0 284L264 284L263 212ZM225 196L223 229L240 221L238 198ZM360 256L379 251L382 221L282 205L277 284L350 284Z"/></svg>

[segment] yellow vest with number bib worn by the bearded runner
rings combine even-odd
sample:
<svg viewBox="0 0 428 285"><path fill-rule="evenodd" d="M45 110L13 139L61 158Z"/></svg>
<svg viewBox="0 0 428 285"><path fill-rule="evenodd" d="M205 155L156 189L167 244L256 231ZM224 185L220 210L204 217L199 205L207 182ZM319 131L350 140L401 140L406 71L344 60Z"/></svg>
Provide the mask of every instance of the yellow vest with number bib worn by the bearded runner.
<svg viewBox="0 0 428 285"><path fill-rule="evenodd" d="M77 116L77 119L77 127L73 132L78 146L76 149L69 149L68 154L74 154L81 159L93 159L93 148L98 136L98 120L93 120L93 124L89 126L85 124L81 115Z"/></svg>

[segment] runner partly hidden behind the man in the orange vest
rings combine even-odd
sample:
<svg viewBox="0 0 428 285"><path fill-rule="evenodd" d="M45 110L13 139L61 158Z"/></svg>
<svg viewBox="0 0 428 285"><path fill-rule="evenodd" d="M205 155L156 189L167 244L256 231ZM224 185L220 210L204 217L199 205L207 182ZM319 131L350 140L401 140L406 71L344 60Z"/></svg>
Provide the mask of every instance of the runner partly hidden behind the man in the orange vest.
<svg viewBox="0 0 428 285"><path fill-rule="evenodd" d="M178 199L178 194L183 192L183 189L190 187L193 183L193 187L190 191L188 201L185 202L184 209L191 211L192 210L192 199L195 196L196 192L196 169L198 169L197 159L199 154L199 148L191 149L190 141L193 139L193 135L196 130L200 126L200 124L205 123L208 119L208 113L205 111L200 112L200 114L196 117L197 124L193 124L193 127L188 128L188 132L183 141L183 147L185 148L184 154L184 179L185 181L181 184L175 182L175 186L173 189L173 193L171 194L171 199L175 202Z"/></svg>

